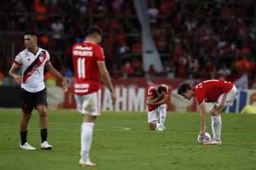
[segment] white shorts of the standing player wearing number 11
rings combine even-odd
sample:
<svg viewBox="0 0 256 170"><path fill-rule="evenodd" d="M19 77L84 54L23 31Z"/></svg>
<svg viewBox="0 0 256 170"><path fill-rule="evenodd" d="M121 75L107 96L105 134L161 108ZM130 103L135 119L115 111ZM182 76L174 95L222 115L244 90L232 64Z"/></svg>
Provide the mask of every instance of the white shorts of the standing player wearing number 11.
<svg viewBox="0 0 256 170"><path fill-rule="evenodd" d="M100 89L84 96L74 94L76 109L84 115L100 116L100 95Z"/></svg>

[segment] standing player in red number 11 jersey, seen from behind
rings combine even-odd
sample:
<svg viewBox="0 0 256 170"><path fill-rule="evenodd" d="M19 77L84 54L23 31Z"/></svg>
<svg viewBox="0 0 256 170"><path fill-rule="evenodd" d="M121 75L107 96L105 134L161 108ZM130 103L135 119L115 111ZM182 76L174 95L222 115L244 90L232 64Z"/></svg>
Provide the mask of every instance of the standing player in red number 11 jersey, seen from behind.
<svg viewBox="0 0 256 170"><path fill-rule="evenodd" d="M81 125L80 166L97 166L90 161L89 151L96 116L100 116L101 78L110 90L113 105L116 100L105 65L105 55L98 45L101 41L102 30L98 26L90 26L86 30L86 41L73 45L74 98L77 110L84 115Z"/></svg>

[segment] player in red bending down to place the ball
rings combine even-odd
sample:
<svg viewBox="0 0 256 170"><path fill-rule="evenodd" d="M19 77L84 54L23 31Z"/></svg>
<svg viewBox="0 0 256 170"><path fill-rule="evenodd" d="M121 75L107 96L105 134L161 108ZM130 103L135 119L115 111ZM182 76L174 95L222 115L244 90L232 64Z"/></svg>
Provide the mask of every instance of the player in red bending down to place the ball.
<svg viewBox="0 0 256 170"><path fill-rule="evenodd" d="M228 81L208 80L197 84L192 88L189 84L183 83L178 86L178 94L184 99L191 99L193 96L197 100L201 113L201 132L202 138L206 132L206 104L214 103L211 110L212 119L212 142L205 145L221 145L221 111L226 106L232 106L237 89L235 85Z"/></svg>

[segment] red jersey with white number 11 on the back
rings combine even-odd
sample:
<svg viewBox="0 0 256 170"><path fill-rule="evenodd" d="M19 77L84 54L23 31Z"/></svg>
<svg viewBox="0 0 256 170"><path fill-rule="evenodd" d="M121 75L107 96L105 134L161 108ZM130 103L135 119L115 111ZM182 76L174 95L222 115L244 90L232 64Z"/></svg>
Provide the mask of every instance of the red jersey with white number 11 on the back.
<svg viewBox="0 0 256 170"><path fill-rule="evenodd" d="M72 49L74 64L74 94L85 95L100 89L97 62L105 62L102 47L92 42L75 43Z"/></svg>

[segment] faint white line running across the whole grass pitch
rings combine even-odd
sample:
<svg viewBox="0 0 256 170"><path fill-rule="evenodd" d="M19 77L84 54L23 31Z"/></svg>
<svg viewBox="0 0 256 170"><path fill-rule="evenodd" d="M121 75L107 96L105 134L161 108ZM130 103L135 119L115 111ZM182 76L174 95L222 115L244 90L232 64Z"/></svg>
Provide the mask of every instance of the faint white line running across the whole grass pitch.
<svg viewBox="0 0 256 170"><path fill-rule="evenodd" d="M101 126L104 127L104 126ZM107 126L106 126L107 127ZM95 131L110 131L110 132L149 132L149 133L190 133L190 134L198 134L199 132L174 132L174 131L163 131L163 132L157 132L157 131L150 131L150 130L131 130L129 127L108 127L108 128L113 128L113 129L103 129L103 128L95 128ZM18 127L0 127L0 129L9 129L13 130L16 129L18 130ZM34 127L29 127L28 130L30 131L37 131L39 128L34 128ZM69 131L69 132L80 132L80 129L75 130L74 128L50 128L50 130L64 130L64 131ZM241 135L241 136L256 136L256 133L221 133L221 135Z"/></svg>

